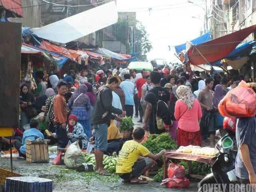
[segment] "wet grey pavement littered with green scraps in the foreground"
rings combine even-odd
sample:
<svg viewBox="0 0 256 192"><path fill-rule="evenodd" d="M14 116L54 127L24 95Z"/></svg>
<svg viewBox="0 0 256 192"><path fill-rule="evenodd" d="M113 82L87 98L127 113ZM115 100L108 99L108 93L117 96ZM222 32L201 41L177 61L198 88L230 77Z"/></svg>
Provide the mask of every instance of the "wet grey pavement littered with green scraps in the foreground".
<svg viewBox="0 0 256 192"><path fill-rule="evenodd" d="M10 159L0 158L0 167L10 170ZM14 172L24 176L35 176L52 179L53 192L196 192L197 182L192 182L188 188L170 189L160 186L160 182L148 184L122 183L120 178L112 176L100 176L96 172L76 172L67 169L66 166L52 166L51 163L29 163L24 159L13 160Z"/></svg>

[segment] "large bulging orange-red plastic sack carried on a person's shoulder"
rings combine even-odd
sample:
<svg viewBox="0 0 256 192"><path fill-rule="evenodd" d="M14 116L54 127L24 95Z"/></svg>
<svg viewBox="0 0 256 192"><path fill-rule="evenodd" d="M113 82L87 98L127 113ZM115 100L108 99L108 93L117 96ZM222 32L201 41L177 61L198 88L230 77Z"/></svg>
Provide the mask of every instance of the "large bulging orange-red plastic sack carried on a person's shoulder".
<svg viewBox="0 0 256 192"><path fill-rule="evenodd" d="M256 115L256 93L241 81L220 101L218 109L224 117L253 117Z"/></svg>

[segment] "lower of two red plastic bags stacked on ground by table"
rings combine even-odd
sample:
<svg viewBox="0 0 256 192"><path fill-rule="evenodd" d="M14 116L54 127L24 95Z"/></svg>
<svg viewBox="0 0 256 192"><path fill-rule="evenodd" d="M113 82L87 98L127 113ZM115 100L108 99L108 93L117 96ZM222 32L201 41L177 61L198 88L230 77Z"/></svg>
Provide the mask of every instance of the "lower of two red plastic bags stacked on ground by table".
<svg viewBox="0 0 256 192"><path fill-rule="evenodd" d="M168 178L161 185L165 184L168 188L186 188L190 185L190 181L184 178Z"/></svg>

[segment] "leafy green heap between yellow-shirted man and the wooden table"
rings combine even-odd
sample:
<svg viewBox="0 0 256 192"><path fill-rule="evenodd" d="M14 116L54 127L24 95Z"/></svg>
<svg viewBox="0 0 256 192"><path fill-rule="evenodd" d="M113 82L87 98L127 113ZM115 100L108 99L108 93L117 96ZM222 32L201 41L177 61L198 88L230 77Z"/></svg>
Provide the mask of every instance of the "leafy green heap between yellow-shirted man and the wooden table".
<svg viewBox="0 0 256 192"><path fill-rule="evenodd" d="M152 134L149 136L146 142L142 143L153 154L159 153L161 150L172 150L177 149L177 144L172 140L168 133Z"/></svg>

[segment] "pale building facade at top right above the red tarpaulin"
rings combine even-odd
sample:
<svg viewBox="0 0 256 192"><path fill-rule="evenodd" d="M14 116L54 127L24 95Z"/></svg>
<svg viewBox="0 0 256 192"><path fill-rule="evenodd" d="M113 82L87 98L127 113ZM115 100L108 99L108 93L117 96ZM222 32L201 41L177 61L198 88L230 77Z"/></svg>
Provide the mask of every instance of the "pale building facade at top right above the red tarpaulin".
<svg viewBox="0 0 256 192"><path fill-rule="evenodd" d="M210 29L213 38L218 38L256 24L256 1L212 0L210 14ZM255 38L251 34L246 41Z"/></svg>

